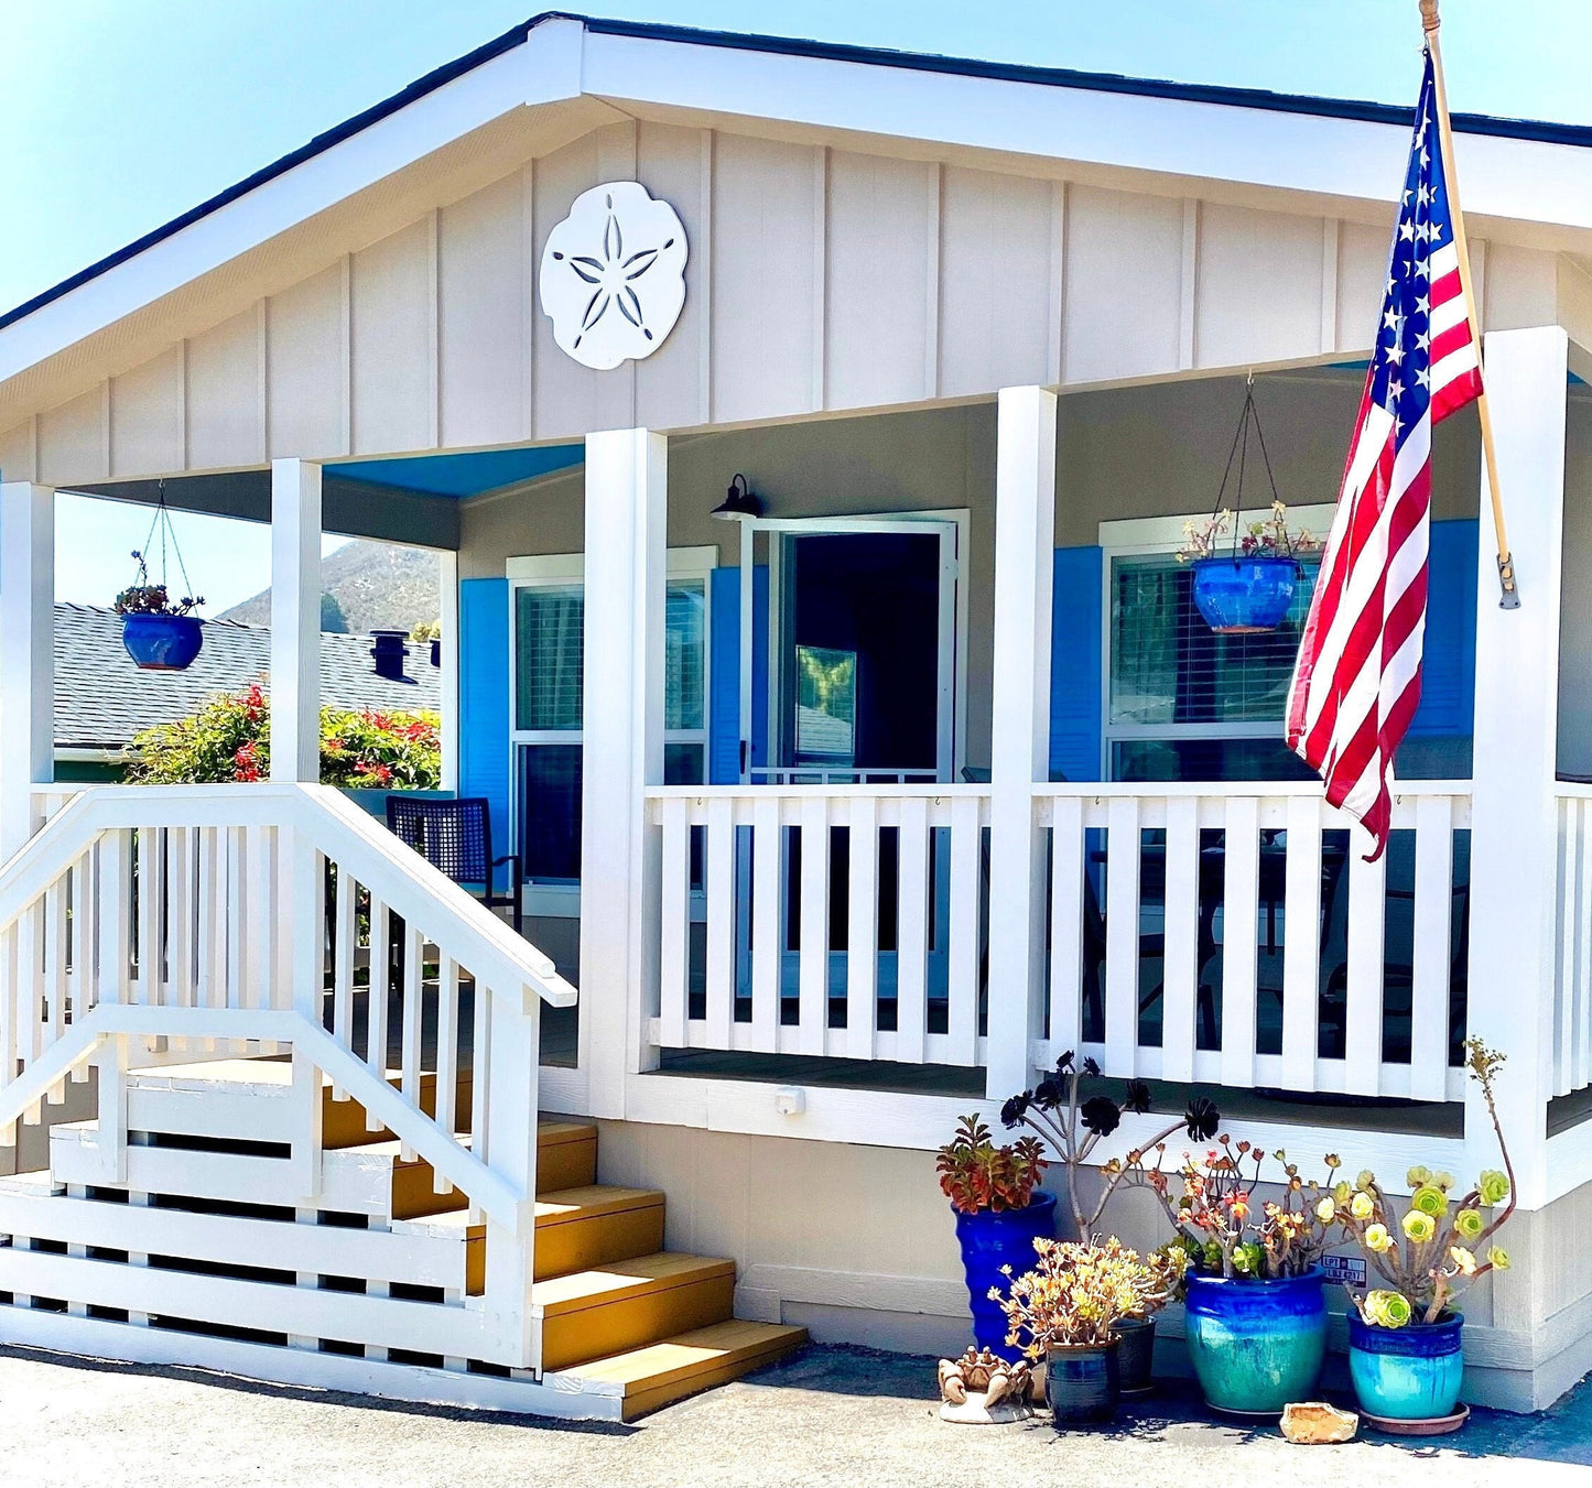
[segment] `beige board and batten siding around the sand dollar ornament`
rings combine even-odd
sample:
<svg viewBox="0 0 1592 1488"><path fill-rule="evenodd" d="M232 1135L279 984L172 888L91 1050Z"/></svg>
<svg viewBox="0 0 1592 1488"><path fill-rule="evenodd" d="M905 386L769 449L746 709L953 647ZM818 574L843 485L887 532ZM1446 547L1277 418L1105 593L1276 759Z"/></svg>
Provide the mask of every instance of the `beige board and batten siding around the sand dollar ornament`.
<svg viewBox="0 0 1592 1488"><path fill-rule="evenodd" d="M576 194L629 177L686 226L686 306L651 358L594 372L554 345L535 269ZM610 124L10 428L0 469L72 484L1353 355L1385 255L1336 218ZM1477 261L1493 325L1592 301L1552 253Z"/></svg>

